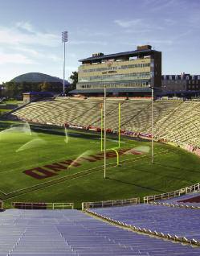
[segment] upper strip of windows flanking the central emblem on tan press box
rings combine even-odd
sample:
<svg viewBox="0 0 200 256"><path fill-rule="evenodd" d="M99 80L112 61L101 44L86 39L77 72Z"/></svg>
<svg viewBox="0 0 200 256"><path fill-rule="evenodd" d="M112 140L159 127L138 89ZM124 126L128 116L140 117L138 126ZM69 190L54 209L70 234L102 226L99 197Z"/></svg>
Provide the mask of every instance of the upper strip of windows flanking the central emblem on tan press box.
<svg viewBox="0 0 200 256"><path fill-rule="evenodd" d="M120 70L120 69L127 69L127 68L145 68L150 67L149 63L141 63L141 64L129 64L129 65L121 65L119 67L106 67L106 68L90 68L90 69L83 69L79 70L79 72L102 72L108 70Z"/></svg>

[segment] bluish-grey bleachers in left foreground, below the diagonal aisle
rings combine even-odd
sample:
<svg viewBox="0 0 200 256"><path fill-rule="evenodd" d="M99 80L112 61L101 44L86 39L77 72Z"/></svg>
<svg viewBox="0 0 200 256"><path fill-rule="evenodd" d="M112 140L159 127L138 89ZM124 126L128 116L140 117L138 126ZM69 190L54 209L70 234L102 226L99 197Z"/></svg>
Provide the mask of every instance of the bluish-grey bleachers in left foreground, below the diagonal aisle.
<svg viewBox="0 0 200 256"><path fill-rule="evenodd" d="M198 256L182 246L120 229L77 210L0 213L0 255L12 256Z"/></svg>

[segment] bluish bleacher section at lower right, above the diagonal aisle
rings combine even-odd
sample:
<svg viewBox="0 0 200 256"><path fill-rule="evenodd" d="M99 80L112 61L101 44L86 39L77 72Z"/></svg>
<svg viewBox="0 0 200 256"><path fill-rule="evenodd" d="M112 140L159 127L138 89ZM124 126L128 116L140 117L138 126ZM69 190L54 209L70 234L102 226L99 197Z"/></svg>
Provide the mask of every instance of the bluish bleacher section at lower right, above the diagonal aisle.
<svg viewBox="0 0 200 256"><path fill-rule="evenodd" d="M178 237L178 240L200 242L199 210L169 208L164 205L137 204L106 209L92 209L101 217L121 221L140 229L156 231L157 233ZM184 238L184 239L183 239Z"/></svg>

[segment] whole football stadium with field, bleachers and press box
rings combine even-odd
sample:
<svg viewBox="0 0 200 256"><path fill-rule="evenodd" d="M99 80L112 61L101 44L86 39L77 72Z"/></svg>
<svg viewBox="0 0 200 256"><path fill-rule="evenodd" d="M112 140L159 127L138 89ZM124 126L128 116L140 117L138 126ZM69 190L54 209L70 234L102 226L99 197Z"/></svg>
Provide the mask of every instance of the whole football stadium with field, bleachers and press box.
<svg viewBox="0 0 200 256"><path fill-rule="evenodd" d="M200 255L200 101L150 45L80 63L1 115L0 255Z"/></svg>

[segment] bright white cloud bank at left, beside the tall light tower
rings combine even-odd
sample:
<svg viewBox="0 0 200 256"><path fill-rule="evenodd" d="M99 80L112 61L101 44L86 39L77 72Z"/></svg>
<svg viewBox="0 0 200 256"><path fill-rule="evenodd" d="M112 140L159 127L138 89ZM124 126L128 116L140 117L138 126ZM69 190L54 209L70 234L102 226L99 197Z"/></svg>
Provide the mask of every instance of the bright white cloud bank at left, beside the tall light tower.
<svg viewBox="0 0 200 256"><path fill-rule="evenodd" d="M59 44L57 35L36 31L31 23L18 22L12 27L0 27L0 47L3 49L0 64L39 64L41 60L59 62L61 58L47 49Z"/></svg>

